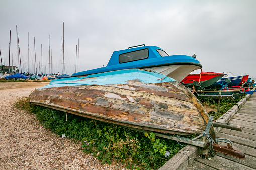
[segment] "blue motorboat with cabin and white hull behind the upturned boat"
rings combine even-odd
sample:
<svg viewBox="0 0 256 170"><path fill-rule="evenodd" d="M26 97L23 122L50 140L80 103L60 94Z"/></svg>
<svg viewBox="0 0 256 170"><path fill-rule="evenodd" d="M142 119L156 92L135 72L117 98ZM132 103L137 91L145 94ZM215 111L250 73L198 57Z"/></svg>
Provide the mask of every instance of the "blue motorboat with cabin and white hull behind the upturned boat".
<svg viewBox="0 0 256 170"><path fill-rule="evenodd" d="M106 67L74 73L72 77L131 68L152 70L181 82L189 73L202 68L202 65L196 55L169 56L159 47L143 44L114 51Z"/></svg>

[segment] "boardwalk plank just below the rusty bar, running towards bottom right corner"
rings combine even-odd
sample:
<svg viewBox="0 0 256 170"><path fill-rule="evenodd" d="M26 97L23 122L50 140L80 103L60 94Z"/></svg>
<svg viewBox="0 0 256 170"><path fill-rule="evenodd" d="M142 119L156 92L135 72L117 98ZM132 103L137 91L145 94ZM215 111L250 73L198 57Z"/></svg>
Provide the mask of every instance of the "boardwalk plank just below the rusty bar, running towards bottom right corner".
<svg viewBox="0 0 256 170"><path fill-rule="evenodd" d="M199 156L197 156L195 160L216 169L253 169L217 155L212 157L212 160L203 159Z"/></svg>

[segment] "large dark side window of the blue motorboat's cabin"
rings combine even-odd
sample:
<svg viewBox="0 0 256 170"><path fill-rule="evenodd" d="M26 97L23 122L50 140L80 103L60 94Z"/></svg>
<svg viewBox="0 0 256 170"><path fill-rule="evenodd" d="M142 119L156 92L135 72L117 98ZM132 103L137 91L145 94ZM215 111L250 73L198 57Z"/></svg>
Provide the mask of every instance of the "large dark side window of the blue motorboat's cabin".
<svg viewBox="0 0 256 170"><path fill-rule="evenodd" d="M132 51L119 55L119 63L142 60L148 58L148 49Z"/></svg>

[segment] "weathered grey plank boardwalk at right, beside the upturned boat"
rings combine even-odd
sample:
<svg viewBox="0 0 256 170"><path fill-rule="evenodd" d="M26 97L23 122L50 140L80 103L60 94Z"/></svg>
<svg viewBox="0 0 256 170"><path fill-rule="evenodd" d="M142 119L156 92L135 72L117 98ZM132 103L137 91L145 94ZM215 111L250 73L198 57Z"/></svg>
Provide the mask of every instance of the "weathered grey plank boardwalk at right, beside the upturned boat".
<svg viewBox="0 0 256 170"><path fill-rule="evenodd" d="M219 152L212 160L198 155L187 169L256 169L256 93L250 96L229 122L241 125L243 130L222 129L217 136L231 140L233 149L243 152L245 159L225 156ZM226 143L221 145L226 146Z"/></svg>

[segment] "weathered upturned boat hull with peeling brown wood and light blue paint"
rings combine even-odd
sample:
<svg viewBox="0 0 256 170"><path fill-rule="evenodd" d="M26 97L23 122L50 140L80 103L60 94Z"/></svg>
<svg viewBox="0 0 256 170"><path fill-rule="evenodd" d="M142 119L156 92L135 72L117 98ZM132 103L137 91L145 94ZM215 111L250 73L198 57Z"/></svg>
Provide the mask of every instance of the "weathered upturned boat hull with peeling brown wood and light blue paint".
<svg viewBox="0 0 256 170"><path fill-rule="evenodd" d="M200 134L209 119L186 87L139 69L53 80L30 98L37 105L79 116L169 134ZM214 134L213 128L210 132Z"/></svg>

